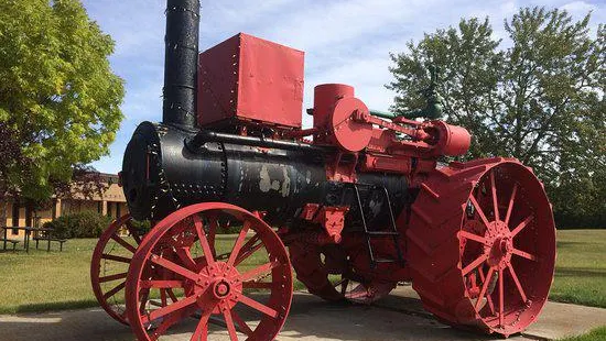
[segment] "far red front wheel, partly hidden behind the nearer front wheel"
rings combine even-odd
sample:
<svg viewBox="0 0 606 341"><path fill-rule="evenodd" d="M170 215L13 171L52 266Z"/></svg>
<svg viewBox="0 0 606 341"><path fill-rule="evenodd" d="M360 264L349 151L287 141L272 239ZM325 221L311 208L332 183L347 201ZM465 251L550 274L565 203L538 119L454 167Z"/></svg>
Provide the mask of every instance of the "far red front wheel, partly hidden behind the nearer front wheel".
<svg viewBox="0 0 606 341"><path fill-rule="evenodd" d="M90 282L97 301L109 316L125 324L128 320L121 295L129 263L141 242L131 222L130 215L115 220L99 238L90 262ZM125 230L131 234L132 241L120 235Z"/></svg>

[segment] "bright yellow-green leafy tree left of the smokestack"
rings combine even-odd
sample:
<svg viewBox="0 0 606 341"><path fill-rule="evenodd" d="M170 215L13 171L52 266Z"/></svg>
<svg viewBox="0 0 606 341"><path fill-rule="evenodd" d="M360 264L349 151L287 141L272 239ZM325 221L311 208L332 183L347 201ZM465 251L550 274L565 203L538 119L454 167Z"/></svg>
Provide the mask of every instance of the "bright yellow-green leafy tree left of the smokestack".
<svg viewBox="0 0 606 341"><path fill-rule="evenodd" d="M78 0L0 2L0 202L47 199L75 165L108 153L125 94L112 53Z"/></svg>

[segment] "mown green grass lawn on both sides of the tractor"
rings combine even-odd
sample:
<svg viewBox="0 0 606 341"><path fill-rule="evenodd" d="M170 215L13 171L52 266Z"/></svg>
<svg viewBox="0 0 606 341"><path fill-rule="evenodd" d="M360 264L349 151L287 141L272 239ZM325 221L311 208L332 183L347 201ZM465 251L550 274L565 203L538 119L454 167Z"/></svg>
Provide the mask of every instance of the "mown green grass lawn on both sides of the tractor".
<svg viewBox="0 0 606 341"><path fill-rule="evenodd" d="M61 253L35 248L30 254L0 253L0 314L97 306L89 279L96 243L71 240ZM228 250L226 237L219 237L218 244ZM260 252L248 265L266 260ZM606 308L606 230L559 231L556 266L551 299ZM295 289L302 288L295 282Z"/></svg>

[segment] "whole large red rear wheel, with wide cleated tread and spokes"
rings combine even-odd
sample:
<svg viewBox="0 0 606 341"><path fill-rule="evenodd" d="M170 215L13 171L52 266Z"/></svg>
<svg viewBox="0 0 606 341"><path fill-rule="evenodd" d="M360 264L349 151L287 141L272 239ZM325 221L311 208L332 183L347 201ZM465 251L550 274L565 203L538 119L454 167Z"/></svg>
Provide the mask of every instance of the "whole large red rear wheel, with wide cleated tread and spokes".
<svg viewBox="0 0 606 341"><path fill-rule="evenodd" d="M441 212L441 215L435 215ZM541 183L517 160L453 163L421 186L408 260L425 309L505 337L547 301L555 228Z"/></svg>

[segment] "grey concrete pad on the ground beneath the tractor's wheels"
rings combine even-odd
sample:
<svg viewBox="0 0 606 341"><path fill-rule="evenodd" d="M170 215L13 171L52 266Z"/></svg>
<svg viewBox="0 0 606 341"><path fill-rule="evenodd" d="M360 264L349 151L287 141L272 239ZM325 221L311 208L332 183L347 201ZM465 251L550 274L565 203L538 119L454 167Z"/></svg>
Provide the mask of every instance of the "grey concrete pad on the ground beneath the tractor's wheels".
<svg viewBox="0 0 606 341"><path fill-rule="evenodd" d="M508 340L545 340L583 333L606 324L606 309L550 302L539 321L524 334ZM209 340L229 340L219 327ZM128 327L100 308L47 314L0 316L0 339L18 340L132 340ZM188 340L175 333L166 340ZM244 340L244 338L242 338ZM400 287L378 306L331 305L296 293L279 340L499 340L459 331L435 321L421 307L410 287Z"/></svg>

